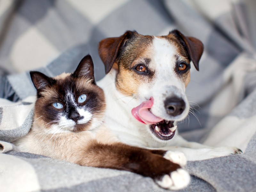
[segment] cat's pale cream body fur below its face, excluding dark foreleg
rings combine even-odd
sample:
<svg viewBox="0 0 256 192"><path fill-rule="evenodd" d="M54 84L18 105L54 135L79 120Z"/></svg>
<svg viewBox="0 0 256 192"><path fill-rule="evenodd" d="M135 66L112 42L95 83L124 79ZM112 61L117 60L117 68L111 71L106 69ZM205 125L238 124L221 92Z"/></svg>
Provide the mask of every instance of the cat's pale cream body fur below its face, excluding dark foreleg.
<svg viewBox="0 0 256 192"><path fill-rule="evenodd" d="M81 151L86 151L94 143L113 144L118 141L104 124L97 130L79 133L45 134L42 130L44 127L33 124L28 135L15 142L18 150L72 163L78 163L84 159L86 161L84 164L87 166L95 166L94 161L97 157L88 158L86 153L83 155Z"/></svg>

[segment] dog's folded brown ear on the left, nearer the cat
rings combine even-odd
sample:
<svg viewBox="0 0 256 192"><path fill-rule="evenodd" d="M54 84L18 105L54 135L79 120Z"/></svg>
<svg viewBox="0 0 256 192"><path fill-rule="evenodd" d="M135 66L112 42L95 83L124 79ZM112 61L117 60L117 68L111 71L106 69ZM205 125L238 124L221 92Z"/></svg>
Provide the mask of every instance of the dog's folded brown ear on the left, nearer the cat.
<svg viewBox="0 0 256 192"><path fill-rule="evenodd" d="M120 48L124 47L127 39L135 34L138 33L136 31L126 31L124 35L120 37L110 37L100 41L98 50L100 59L105 65L106 74L108 74L113 67Z"/></svg>

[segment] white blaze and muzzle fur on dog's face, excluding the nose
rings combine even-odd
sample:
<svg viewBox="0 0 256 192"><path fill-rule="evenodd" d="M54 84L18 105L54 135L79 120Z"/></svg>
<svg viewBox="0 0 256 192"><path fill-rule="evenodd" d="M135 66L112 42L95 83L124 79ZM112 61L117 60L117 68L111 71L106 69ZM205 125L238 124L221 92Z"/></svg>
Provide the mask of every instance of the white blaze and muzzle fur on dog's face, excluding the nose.
<svg viewBox="0 0 256 192"><path fill-rule="evenodd" d="M185 95L185 84L175 72L177 48L165 38L154 37L149 52L149 68L154 71L155 79L150 85L143 84L140 87L139 98L143 101L153 96L154 105L151 112L155 116L170 121L184 119L188 115L189 104ZM184 112L175 117L168 115L164 108L164 101L171 96L182 98L186 104Z"/></svg>

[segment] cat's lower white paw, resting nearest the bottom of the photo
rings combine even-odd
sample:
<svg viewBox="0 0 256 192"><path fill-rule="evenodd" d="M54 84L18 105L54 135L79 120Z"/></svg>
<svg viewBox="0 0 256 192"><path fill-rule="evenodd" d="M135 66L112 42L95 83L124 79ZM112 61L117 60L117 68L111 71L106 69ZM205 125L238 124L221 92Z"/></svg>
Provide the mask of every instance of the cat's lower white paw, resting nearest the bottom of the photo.
<svg viewBox="0 0 256 192"><path fill-rule="evenodd" d="M171 172L170 175L164 175L160 180L157 180L156 183L162 188L179 190L187 187L189 181L190 176L188 172L184 169L177 169Z"/></svg>

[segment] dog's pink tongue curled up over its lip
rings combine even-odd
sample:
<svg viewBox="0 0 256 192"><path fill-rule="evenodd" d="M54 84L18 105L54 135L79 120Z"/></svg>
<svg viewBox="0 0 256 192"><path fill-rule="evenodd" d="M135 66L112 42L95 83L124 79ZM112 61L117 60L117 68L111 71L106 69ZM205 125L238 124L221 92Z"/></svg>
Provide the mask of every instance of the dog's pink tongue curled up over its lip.
<svg viewBox="0 0 256 192"><path fill-rule="evenodd" d="M154 116L149 109L153 106L154 100L151 97L147 101L143 101L139 106L132 109L132 116L143 124L156 124L162 121L162 118Z"/></svg>

